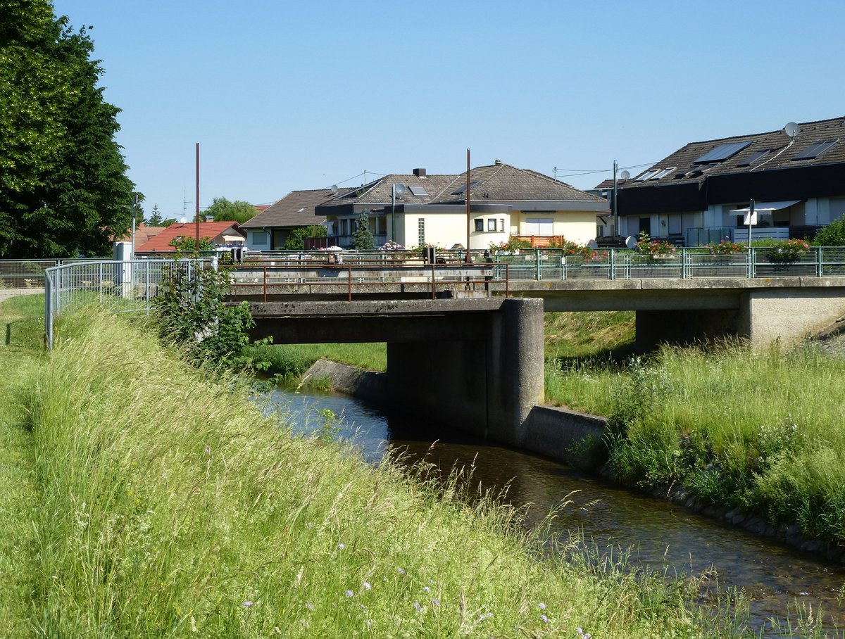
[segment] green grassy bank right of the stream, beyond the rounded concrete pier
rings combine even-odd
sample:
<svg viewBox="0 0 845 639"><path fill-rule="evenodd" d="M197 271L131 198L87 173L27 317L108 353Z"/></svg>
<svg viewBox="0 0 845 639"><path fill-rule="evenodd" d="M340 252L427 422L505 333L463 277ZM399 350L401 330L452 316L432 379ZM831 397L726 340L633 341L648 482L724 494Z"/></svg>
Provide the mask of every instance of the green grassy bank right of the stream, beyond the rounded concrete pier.
<svg viewBox="0 0 845 639"><path fill-rule="evenodd" d="M614 418L620 479L683 485L845 544L845 359L810 344L755 354L718 344L635 360L633 318L548 313L547 402Z"/></svg>

